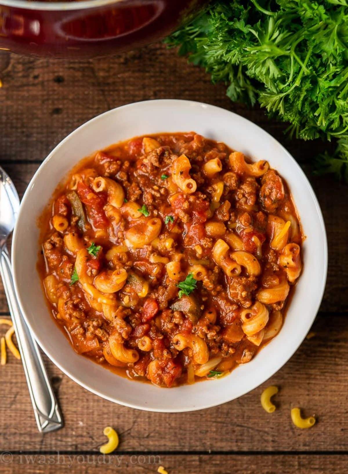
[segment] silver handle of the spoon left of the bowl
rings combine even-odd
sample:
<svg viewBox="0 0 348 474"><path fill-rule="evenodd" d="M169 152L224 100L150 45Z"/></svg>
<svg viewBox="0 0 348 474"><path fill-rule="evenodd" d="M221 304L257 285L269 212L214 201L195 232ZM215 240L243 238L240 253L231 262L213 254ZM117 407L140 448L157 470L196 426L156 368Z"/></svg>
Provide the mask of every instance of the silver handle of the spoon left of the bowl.
<svg viewBox="0 0 348 474"><path fill-rule="evenodd" d="M41 433L48 433L49 431L63 428L63 418L48 379L39 348L18 306L13 286L11 262L6 246L2 248L2 251L0 249L0 273L17 336L37 428Z"/></svg>

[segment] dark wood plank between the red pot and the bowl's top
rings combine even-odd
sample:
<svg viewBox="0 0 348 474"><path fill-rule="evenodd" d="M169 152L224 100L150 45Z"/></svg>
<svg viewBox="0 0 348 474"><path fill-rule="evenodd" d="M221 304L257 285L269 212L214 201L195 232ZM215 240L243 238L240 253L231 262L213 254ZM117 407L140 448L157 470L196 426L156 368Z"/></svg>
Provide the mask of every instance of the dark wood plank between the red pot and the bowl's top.
<svg viewBox="0 0 348 474"><path fill-rule="evenodd" d="M2 73L0 160L42 160L68 133L114 107L148 99L187 99L232 110L265 128L294 157L308 162L332 149L321 140L287 139L286 124L265 110L235 104L224 84L213 85L203 69L187 64L162 44L93 61L36 60L11 56Z"/></svg>

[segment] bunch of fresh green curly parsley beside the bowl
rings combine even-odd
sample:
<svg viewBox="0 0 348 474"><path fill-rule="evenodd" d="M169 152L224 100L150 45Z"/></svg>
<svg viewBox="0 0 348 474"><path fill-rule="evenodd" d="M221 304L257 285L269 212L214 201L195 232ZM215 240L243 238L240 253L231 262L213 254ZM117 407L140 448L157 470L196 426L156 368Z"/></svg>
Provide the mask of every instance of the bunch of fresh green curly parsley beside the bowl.
<svg viewBox="0 0 348 474"><path fill-rule="evenodd" d="M348 0L215 0L166 41L291 136L338 138L316 168L348 182Z"/></svg>

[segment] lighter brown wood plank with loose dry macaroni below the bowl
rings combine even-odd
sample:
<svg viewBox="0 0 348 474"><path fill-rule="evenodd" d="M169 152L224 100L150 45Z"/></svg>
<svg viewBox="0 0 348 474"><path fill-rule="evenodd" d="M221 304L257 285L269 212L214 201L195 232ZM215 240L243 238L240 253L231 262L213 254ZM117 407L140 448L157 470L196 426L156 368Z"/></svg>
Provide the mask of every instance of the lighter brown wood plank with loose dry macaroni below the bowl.
<svg viewBox="0 0 348 474"><path fill-rule="evenodd" d="M262 386L220 407L192 413L151 413L112 404L87 392L48 362L65 427L46 436L37 432L22 367L9 355L9 364L0 369L0 452L90 452L104 442L102 431L108 425L119 432L122 452L348 452L347 317L319 318L313 331L315 337L306 339ZM202 382L202 396L204 383L210 382ZM272 414L260 405L260 394L270 384L280 387L275 397L278 409ZM316 414L317 424L307 430L295 428L290 419L295 406L306 416Z"/></svg>

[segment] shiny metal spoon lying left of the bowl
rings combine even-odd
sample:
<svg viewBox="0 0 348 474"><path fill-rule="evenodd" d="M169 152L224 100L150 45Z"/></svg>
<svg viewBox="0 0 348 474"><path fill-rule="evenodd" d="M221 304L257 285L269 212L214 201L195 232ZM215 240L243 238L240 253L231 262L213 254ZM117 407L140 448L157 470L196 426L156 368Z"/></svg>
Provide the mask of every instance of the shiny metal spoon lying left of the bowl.
<svg viewBox="0 0 348 474"><path fill-rule="evenodd" d="M19 309L13 286L6 242L14 228L18 210L19 198L16 188L7 173L0 167L0 274L17 336L37 428L42 433L48 433L62 428L64 422L39 348Z"/></svg>

